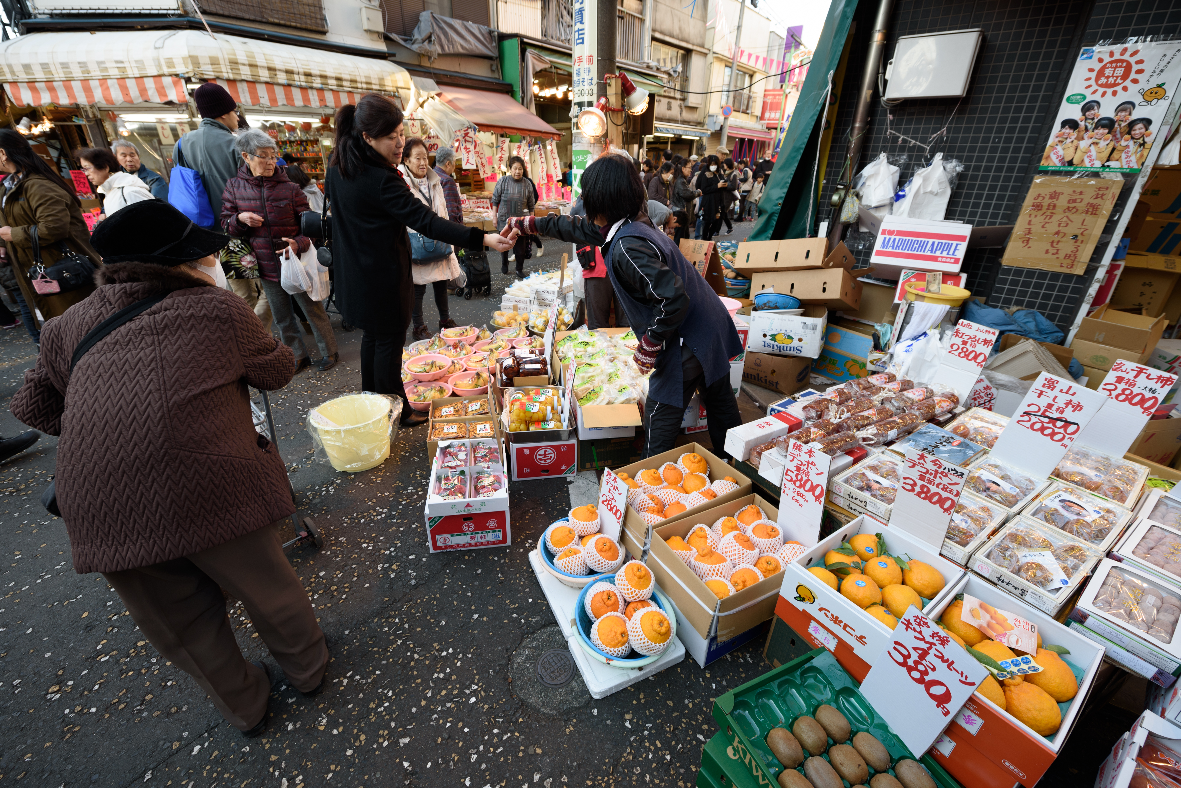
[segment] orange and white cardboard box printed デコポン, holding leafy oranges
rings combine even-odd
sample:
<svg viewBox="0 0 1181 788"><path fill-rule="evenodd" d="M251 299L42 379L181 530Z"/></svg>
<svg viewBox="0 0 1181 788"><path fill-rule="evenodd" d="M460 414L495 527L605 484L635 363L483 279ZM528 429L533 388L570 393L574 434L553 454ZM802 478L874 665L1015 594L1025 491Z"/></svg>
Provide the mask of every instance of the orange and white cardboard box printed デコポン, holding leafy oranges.
<svg viewBox="0 0 1181 788"><path fill-rule="evenodd" d="M784 570L775 612L814 646L824 646L859 682L889 642L890 630L808 571L823 566L824 553L859 533L881 533L890 554L906 554L935 567L946 580L942 591L924 610L929 615L964 577L964 569L932 552L922 540L900 527L862 514L822 539Z"/></svg>

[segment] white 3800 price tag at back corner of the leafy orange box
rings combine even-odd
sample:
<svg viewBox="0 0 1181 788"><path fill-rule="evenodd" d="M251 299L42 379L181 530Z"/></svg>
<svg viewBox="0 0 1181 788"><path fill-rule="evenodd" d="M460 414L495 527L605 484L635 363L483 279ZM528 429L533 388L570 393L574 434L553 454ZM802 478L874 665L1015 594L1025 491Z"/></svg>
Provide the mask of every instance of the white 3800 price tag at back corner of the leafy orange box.
<svg viewBox="0 0 1181 788"><path fill-rule="evenodd" d="M967 472L958 465L908 447L900 472L889 524L922 539L934 552L942 547Z"/></svg>

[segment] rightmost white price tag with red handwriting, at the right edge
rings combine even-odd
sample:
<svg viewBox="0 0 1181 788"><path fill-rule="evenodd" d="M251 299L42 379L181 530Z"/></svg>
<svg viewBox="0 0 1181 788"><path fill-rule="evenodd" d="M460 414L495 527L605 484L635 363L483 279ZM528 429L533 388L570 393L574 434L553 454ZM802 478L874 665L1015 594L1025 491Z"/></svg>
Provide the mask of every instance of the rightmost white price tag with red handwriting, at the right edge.
<svg viewBox="0 0 1181 788"><path fill-rule="evenodd" d="M1116 359L1098 388L1107 401L1100 415L1079 433L1079 445L1123 457L1176 380L1167 372Z"/></svg>

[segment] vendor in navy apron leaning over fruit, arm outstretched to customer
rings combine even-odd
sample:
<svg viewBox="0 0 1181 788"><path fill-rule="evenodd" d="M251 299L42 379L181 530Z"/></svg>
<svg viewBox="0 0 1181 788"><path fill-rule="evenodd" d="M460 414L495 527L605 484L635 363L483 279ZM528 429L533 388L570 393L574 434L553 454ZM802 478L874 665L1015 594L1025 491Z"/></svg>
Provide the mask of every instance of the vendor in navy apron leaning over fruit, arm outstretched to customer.
<svg viewBox="0 0 1181 788"><path fill-rule="evenodd" d="M673 448L693 392L709 413L713 452L726 459L726 431L742 423L730 359L742 353L733 320L664 232L644 221L644 183L629 159L607 153L582 175L586 216L522 216L514 229L602 248L615 294L640 339L635 366L652 370L645 457Z"/></svg>

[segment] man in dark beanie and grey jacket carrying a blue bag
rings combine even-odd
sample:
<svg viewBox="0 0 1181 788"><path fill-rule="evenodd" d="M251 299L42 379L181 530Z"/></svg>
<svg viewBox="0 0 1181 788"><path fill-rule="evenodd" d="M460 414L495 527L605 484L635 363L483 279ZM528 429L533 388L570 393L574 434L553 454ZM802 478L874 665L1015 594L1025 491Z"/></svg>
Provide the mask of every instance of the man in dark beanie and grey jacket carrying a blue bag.
<svg viewBox="0 0 1181 788"><path fill-rule="evenodd" d="M201 114L201 125L188 132L172 147L172 160L201 173L201 183L209 196L213 210L210 230L221 232L217 217L221 216L221 196L226 182L237 173L241 164L234 150L234 133L237 131L237 104L221 85L205 83L193 93ZM189 218L196 221L196 217Z"/></svg>

